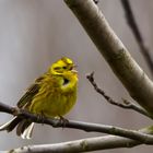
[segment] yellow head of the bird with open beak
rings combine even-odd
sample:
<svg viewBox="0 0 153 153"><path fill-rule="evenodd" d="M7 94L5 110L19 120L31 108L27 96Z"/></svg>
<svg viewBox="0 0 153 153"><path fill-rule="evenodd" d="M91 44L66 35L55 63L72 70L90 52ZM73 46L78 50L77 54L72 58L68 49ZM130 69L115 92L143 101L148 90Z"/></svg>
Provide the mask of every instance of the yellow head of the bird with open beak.
<svg viewBox="0 0 153 153"><path fill-rule="evenodd" d="M70 71L76 73L76 71L73 69L74 67L75 66L71 59L63 57L52 63L52 66L49 68L49 73L57 75L61 75Z"/></svg>

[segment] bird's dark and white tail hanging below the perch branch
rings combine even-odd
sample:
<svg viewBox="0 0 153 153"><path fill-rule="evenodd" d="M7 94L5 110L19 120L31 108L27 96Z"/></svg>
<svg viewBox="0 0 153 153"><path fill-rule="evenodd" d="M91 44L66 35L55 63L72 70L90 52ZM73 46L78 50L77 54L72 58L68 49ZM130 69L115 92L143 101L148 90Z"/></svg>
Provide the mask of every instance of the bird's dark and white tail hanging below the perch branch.
<svg viewBox="0 0 153 153"><path fill-rule="evenodd" d="M17 136L20 136L23 139L32 138L34 122L32 122L30 119L23 119L20 117L14 117L10 121L0 126L0 131L7 130L8 132L11 132L16 126L17 126L16 128Z"/></svg>

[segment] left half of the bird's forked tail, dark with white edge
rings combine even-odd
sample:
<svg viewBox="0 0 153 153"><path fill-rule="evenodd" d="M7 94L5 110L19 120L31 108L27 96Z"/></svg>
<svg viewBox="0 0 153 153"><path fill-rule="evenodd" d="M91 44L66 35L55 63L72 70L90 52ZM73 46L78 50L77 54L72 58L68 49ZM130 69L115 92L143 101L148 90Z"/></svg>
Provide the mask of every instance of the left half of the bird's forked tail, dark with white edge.
<svg viewBox="0 0 153 153"><path fill-rule="evenodd" d="M11 132L21 120L22 118L14 117L13 119L5 122L4 125L0 126L0 131L7 130L8 132Z"/></svg>

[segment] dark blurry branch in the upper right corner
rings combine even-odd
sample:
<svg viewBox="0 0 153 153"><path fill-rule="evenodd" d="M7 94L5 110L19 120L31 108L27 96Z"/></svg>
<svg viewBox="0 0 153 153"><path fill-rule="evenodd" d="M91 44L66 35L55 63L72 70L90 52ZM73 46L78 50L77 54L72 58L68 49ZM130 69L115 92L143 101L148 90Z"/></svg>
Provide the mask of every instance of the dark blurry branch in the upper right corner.
<svg viewBox="0 0 153 153"><path fill-rule="evenodd" d="M121 4L123 7L123 10L125 10L125 14L126 14L126 19L127 19L127 23L129 24L129 27L131 28L134 37L136 37L136 40L140 47L140 51L141 54L143 55L151 72L152 72L152 75L153 75L153 60L151 58L151 55L149 52L149 49L146 48L146 46L144 45L144 40L142 38L142 35L139 31L139 27L137 25L137 22L136 22L136 19L134 19L134 15L133 15L133 12L131 10L131 5L130 5L130 2L129 0L121 0Z"/></svg>

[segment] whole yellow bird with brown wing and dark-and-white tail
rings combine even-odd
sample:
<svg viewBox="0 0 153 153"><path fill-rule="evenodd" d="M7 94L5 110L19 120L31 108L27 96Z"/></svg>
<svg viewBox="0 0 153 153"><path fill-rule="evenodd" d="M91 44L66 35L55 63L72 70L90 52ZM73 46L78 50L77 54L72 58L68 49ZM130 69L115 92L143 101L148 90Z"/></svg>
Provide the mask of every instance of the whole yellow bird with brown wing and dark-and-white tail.
<svg viewBox="0 0 153 153"><path fill-rule="evenodd" d="M17 107L44 117L59 117L69 113L76 101L78 72L71 59L63 57L52 63L46 73L35 80L21 97ZM0 127L0 131L12 131L23 139L32 138L34 122L14 117Z"/></svg>

